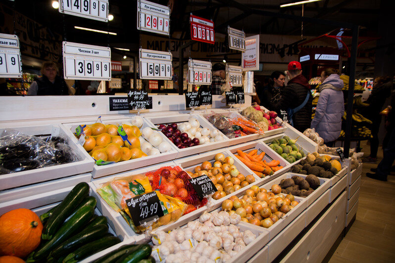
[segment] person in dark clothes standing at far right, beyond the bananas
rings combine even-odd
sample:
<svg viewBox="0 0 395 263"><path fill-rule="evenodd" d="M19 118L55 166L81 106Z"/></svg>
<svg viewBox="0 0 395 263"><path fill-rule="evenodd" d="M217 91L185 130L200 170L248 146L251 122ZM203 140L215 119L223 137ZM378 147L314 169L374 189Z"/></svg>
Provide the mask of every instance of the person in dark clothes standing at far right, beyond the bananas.
<svg viewBox="0 0 395 263"><path fill-rule="evenodd" d="M380 112L386 102L386 99L391 96L392 80L388 76L378 77L373 81L373 90L366 103L369 104L362 114L365 118L371 120L372 136L370 139L370 155L363 158L364 163L375 164L377 162L377 151L379 150L379 129L382 116Z"/></svg>

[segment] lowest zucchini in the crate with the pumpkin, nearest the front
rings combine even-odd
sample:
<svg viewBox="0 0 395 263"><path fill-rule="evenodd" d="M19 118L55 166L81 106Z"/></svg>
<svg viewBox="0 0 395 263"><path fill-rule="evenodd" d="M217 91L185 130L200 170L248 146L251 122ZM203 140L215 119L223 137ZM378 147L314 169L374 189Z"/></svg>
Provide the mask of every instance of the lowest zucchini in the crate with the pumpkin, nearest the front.
<svg viewBox="0 0 395 263"><path fill-rule="evenodd" d="M99 240L88 243L78 248L73 253L68 254L63 260L63 263L76 263L120 242L121 240L116 236L100 238Z"/></svg>

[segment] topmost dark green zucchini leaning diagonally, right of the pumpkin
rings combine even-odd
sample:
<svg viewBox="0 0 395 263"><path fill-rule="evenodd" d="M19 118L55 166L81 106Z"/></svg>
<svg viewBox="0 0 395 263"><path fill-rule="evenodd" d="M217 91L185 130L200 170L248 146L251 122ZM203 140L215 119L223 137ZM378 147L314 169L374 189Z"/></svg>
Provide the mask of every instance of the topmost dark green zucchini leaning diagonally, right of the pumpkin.
<svg viewBox="0 0 395 263"><path fill-rule="evenodd" d="M51 239L52 235L56 233L64 220L68 218L82 200L88 196L88 193L88 183L80 182L74 186L45 223L41 238L44 240Z"/></svg>

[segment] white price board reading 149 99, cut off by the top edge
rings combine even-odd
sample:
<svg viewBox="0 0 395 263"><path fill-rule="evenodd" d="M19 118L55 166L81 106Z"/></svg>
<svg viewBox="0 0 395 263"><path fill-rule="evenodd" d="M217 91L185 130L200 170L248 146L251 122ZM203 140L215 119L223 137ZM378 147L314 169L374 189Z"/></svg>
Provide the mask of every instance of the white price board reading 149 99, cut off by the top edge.
<svg viewBox="0 0 395 263"><path fill-rule="evenodd" d="M108 22L108 0L59 0L59 12Z"/></svg>

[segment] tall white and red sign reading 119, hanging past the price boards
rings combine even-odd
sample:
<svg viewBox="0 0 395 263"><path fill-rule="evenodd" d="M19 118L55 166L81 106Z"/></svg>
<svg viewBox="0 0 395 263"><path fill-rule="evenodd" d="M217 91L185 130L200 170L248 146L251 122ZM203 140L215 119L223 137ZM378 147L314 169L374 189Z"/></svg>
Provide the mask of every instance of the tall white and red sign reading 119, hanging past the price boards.
<svg viewBox="0 0 395 263"><path fill-rule="evenodd" d="M243 71L259 70L259 35L246 38L246 51L242 55Z"/></svg>

